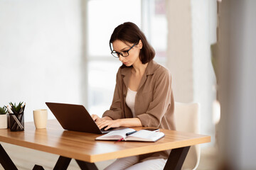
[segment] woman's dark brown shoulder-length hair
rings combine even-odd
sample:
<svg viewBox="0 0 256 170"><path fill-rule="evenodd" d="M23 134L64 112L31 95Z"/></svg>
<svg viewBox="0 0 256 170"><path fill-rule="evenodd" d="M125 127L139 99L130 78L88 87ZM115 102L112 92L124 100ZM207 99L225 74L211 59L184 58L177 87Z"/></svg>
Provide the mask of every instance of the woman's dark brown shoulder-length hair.
<svg viewBox="0 0 256 170"><path fill-rule="evenodd" d="M139 59L142 61L142 64L146 64L153 60L155 56L155 51L149 42L146 40L144 33L139 29L134 23L127 22L122 23L117 28L114 28L114 31L110 38L110 50L111 43L115 40L121 40L122 42L129 42L131 44L138 44L139 40L142 40L142 49L139 52Z"/></svg>

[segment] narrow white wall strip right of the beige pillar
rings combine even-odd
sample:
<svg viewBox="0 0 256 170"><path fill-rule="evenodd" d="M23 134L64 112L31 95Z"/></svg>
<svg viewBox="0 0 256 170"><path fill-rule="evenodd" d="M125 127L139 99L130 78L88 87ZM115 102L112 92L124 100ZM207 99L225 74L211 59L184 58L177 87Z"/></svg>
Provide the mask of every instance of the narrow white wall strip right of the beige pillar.
<svg viewBox="0 0 256 170"><path fill-rule="evenodd" d="M191 0L193 46L193 101L201 103L201 133L212 135L215 74L211 63L210 45L216 40L216 0Z"/></svg>

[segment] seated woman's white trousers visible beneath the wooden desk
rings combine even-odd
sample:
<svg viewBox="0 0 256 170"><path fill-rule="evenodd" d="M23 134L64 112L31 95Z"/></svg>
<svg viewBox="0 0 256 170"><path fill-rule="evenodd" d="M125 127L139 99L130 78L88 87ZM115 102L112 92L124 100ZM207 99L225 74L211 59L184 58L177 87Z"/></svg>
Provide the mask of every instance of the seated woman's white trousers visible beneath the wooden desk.
<svg viewBox="0 0 256 170"><path fill-rule="evenodd" d="M125 157L117 159L105 170L162 170L166 161L166 159L150 159L139 162L139 156Z"/></svg>

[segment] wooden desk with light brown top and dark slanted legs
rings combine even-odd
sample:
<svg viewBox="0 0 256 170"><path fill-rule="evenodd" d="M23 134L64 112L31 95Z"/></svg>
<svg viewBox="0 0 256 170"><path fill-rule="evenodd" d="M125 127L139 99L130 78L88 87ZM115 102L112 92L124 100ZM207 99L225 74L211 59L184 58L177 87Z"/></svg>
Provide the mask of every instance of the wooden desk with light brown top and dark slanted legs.
<svg viewBox="0 0 256 170"><path fill-rule="evenodd" d="M78 162L81 169L97 169L93 162L167 149L172 149L172 151L165 169L181 169L191 145L210 142L210 136L206 135L162 129L161 132L164 132L166 136L157 142L95 141L95 137L99 135L63 130L57 120L48 120L46 129L36 130L31 122L25 123L25 130L21 132L11 132L9 129L0 130L0 142L60 155L54 169L67 169L72 158ZM4 169L16 169L1 145L0 163ZM34 169L38 168L43 169L42 166L34 166Z"/></svg>

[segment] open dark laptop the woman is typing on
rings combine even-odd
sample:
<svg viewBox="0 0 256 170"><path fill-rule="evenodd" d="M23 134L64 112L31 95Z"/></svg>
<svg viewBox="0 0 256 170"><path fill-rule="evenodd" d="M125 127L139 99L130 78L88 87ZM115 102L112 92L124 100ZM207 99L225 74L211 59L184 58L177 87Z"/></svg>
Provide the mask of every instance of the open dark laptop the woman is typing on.
<svg viewBox="0 0 256 170"><path fill-rule="evenodd" d="M96 134L104 134L112 131L100 130L91 115L82 105L50 102L46 102L46 105L65 130Z"/></svg>

